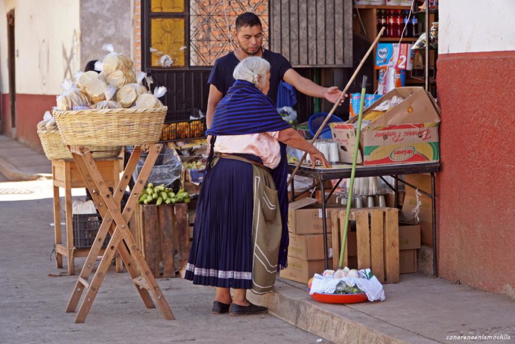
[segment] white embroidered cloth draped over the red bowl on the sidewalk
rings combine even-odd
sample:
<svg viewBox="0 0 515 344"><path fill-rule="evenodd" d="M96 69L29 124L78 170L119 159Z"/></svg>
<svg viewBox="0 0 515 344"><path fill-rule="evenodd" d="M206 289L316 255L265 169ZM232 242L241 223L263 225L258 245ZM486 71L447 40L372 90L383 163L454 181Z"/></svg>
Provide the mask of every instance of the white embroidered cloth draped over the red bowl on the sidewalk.
<svg viewBox="0 0 515 344"><path fill-rule="evenodd" d="M344 281L348 286L357 286L359 289L365 291L369 301L384 301L386 299L383 285L377 277L375 277L370 269L359 270L359 275L363 278L356 279L354 277L343 277L342 279L333 279L332 277L324 278L318 273L315 274L311 283L310 294L313 293L334 293L336 286L340 281Z"/></svg>

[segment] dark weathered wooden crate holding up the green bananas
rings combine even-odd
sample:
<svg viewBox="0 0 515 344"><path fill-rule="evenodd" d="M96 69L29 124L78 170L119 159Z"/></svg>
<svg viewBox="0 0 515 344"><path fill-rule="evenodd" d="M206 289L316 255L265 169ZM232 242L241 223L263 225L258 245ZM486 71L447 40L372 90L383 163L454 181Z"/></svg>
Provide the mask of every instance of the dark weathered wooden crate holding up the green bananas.
<svg viewBox="0 0 515 344"><path fill-rule="evenodd" d="M187 204L138 204L130 228L155 277L176 277L176 266L179 272L185 269L190 254Z"/></svg>

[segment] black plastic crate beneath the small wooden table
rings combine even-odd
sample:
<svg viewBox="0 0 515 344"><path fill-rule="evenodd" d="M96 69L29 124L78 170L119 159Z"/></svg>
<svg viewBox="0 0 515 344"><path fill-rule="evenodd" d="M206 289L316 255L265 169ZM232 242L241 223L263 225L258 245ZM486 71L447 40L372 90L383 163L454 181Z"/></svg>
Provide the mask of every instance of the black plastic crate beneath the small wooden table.
<svg viewBox="0 0 515 344"><path fill-rule="evenodd" d="M77 249L92 247L101 224L102 218L98 214L74 214L73 245ZM102 247L106 247L110 239L111 234L108 232Z"/></svg>

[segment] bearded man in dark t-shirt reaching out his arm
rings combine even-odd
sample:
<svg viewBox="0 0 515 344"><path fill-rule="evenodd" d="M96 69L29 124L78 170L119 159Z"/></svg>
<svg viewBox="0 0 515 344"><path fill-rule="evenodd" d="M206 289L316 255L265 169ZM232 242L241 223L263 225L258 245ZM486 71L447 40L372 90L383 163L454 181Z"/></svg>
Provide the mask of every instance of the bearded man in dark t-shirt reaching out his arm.
<svg viewBox="0 0 515 344"><path fill-rule="evenodd" d="M306 79L297 73L284 56L265 50L262 47L263 28L261 21L254 13L247 12L238 16L234 38L238 42L238 48L216 60L208 79L208 83L211 84L206 114L208 128L211 126L216 106L234 83L232 77L234 68L239 61L249 56L260 56L270 62L270 90L267 95L274 103L277 102L277 91L281 80L293 85L304 94L325 98L332 103L338 101L341 91L336 86L328 88L315 84L310 79ZM343 102L342 99L341 103Z"/></svg>

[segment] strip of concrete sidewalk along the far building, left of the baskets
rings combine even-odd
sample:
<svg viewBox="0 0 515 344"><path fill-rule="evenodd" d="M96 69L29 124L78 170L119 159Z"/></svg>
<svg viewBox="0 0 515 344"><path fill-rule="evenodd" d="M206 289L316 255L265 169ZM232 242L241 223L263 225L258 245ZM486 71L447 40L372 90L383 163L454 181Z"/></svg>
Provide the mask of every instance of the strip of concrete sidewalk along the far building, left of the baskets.
<svg viewBox="0 0 515 344"><path fill-rule="evenodd" d="M52 178L52 162L25 144L0 135L0 174L10 182Z"/></svg>

